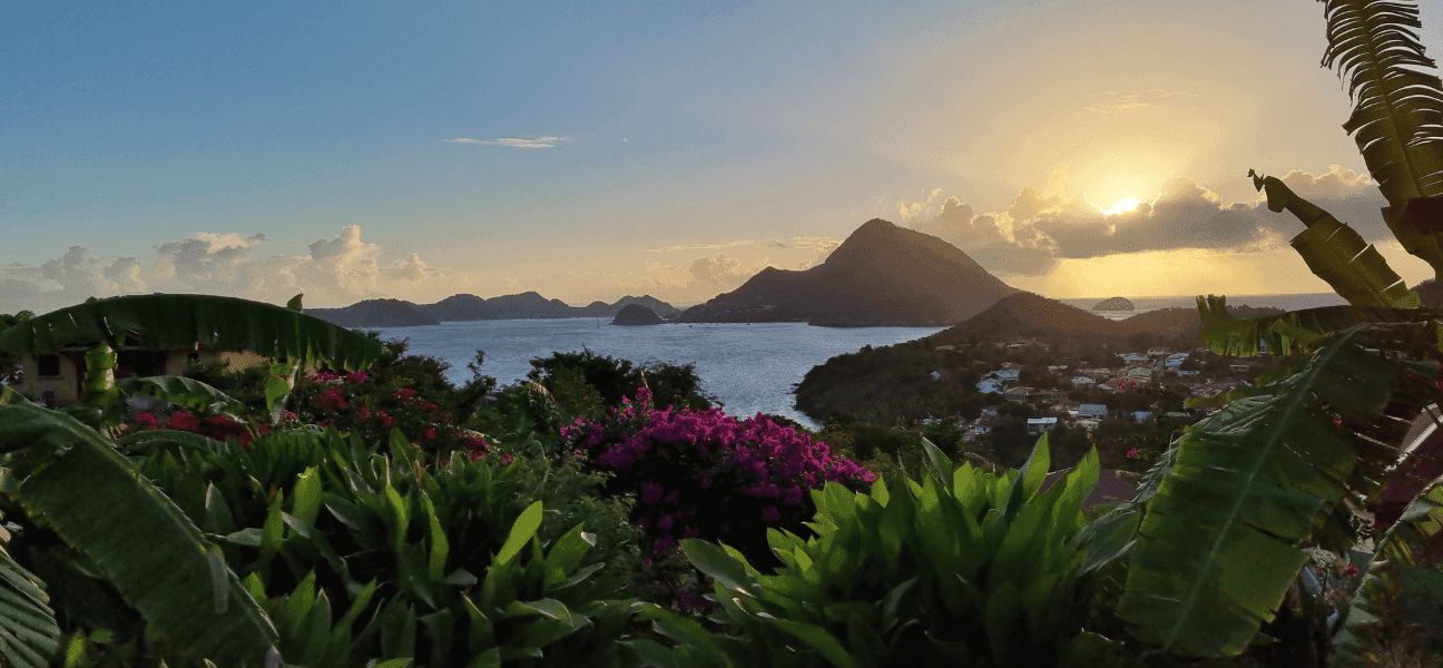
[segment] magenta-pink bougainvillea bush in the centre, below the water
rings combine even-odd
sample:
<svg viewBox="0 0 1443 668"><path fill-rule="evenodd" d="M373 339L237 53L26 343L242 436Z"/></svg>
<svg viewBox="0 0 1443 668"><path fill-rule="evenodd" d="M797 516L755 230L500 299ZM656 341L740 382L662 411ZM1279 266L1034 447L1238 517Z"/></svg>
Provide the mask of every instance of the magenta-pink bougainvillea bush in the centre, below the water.
<svg viewBox="0 0 1443 668"><path fill-rule="evenodd" d="M561 436L615 473L608 492L636 495L632 519L646 529L655 558L700 537L736 547L755 564L772 563L766 528L805 531L815 512L807 489L827 482L863 489L876 479L805 431L720 408L657 410L645 387L606 420L577 420Z"/></svg>

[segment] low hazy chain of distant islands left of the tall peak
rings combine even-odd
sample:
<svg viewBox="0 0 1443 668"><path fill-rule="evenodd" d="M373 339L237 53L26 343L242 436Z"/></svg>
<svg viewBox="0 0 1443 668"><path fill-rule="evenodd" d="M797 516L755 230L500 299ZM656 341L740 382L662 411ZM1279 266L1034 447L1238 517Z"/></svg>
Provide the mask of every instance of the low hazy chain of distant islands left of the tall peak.
<svg viewBox="0 0 1443 668"><path fill-rule="evenodd" d="M466 320L532 320L561 317L616 317L626 306L646 307L652 315L675 316L681 309L649 294L625 296L615 303L592 302L570 306L558 299L545 299L534 291L483 299L475 294L453 294L434 304L416 304L400 299L368 299L343 309L306 309L342 328L411 328Z"/></svg>

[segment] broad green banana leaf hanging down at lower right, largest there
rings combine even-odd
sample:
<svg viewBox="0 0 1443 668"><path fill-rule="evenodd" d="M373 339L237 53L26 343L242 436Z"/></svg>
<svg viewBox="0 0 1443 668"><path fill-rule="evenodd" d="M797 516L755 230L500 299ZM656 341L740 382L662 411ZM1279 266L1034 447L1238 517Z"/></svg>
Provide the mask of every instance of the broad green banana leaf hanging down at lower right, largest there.
<svg viewBox="0 0 1443 668"><path fill-rule="evenodd" d="M1354 340L1359 329L1179 439L1117 606L1134 636L1185 655L1237 655L1273 619L1304 544L1352 544L1346 511L1380 492L1398 459L1387 443L1439 397L1437 364L1371 355Z"/></svg>

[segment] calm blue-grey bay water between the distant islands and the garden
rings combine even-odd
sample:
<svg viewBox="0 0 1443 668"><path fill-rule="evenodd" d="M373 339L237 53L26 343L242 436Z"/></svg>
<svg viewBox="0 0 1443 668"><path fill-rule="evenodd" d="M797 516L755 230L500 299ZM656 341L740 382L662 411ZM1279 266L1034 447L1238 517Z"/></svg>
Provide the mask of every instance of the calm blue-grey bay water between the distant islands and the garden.
<svg viewBox="0 0 1443 668"><path fill-rule="evenodd" d="M1091 306L1091 304L1089 304ZM482 372L502 385L525 378L531 359L577 352L633 362L696 364L703 388L737 417L772 413L802 424L792 387L812 366L864 345L887 346L921 339L945 328L812 328L804 323L697 323L618 328L610 319L478 320L420 328L382 328L382 339L410 339L408 352L450 364L447 378L470 377L466 364L486 351Z"/></svg>

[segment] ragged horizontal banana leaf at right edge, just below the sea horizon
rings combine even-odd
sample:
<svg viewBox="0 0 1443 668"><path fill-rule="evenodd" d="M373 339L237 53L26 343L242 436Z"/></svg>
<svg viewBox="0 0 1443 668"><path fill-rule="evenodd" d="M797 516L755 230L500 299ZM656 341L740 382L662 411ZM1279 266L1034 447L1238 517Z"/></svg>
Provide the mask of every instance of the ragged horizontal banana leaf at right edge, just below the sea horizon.
<svg viewBox="0 0 1443 668"><path fill-rule="evenodd" d="M1424 346L1437 356L1439 326L1443 309L1390 309L1384 306L1323 306L1273 316L1240 319L1227 309L1227 297L1198 296L1199 336L1212 352L1231 356L1261 353L1294 355L1312 352L1329 333L1359 325L1407 325L1413 339L1404 343Z"/></svg>

